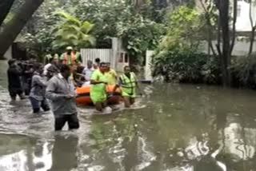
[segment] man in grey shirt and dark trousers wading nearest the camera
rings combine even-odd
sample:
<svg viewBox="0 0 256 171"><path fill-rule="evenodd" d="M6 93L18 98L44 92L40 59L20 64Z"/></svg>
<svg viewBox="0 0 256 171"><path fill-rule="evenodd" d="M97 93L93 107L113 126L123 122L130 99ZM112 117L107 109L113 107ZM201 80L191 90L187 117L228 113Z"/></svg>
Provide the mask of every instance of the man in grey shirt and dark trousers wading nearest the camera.
<svg viewBox="0 0 256 171"><path fill-rule="evenodd" d="M71 69L68 65L60 67L60 74L50 79L46 97L52 101L51 108L55 118L55 130L62 130L66 122L69 129L78 129L78 110L75 102L75 88L70 80Z"/></svg>

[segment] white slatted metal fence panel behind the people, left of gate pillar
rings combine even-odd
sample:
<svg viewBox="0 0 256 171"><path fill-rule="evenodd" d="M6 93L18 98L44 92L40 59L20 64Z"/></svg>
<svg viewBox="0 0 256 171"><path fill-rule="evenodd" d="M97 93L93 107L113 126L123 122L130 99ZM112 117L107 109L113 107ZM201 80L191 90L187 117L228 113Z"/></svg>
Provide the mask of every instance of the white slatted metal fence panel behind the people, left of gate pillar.
<svg viewBox="0 0 256 171"><path fill-rule="evenodd" d="M111 49L82 49L82 64L87 65L87 61L95 61L96 58L100 58L101 62L110 62L110 65L114 66L113 50Z"/></svg>

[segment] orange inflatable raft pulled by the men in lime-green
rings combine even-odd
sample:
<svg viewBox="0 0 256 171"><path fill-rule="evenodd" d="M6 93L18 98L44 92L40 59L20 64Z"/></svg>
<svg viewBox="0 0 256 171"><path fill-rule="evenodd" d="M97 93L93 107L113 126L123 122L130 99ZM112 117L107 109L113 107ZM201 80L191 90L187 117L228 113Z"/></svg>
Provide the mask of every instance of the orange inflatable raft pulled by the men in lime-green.
<svg viewBox="0 0 256 171"><path fill-rule="evenodd" d="M106 92L113 93L114 85L107 85ZM94 105L90 99L90 85L82 86L76 89L78 96L76 97L76 101L79 105ZM116 89L114 95L108 97L107 103L109 105L116 105L119 101L122 100L120 89Z"/></svg>

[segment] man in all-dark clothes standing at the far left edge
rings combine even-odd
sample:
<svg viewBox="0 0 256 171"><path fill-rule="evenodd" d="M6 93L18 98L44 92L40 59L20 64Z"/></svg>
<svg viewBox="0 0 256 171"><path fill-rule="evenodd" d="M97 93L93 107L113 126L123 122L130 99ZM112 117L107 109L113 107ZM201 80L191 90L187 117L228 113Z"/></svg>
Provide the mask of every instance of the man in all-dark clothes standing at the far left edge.
<svg viewBox="0 0 256 171"><path fill-rule="evenodd" d="M21 99L24 99L22 83L21 83L21 75L22 70L16 65L15 59L10 59L8 62L9 69L7 70L8 76L8 89L10 93L10 97L12 101L16 100L16 96L18 95Z"/></svg>

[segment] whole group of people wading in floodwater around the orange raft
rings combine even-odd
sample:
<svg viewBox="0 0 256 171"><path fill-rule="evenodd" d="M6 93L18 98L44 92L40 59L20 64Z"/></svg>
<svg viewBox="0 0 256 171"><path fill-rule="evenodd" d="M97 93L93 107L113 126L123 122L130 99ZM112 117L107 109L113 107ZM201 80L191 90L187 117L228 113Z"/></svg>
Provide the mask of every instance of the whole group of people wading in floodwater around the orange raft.
<svg viewBox="0 0 256 171"><path fill-rule="evenodd" d="M17 95L25 99L22 82L24 74L31 74L30 93L27 94L34 113L50 109L54 113L55 130L61 130L68 122L69 129L78 129L78 110L75 98L76 87L90 85L90 98L95 108L102 112L107 106L107 97L113 94L106 93L106 85L114 85L113 93L120 88L126 108L134 104L136 88L139 89L138 79L129 66L124 67L124 72L118 77L115 70L110 68L110 63L100 62L96 58L95 63L88 61L87 67L82 66L81 55L72 47L67 47L66 52L58 58L58 55L48 55L49 63L30 60L18 62L10 59L8 76L8 89L12 101ZM50 105L49 105L50 103Z"/></svg>

